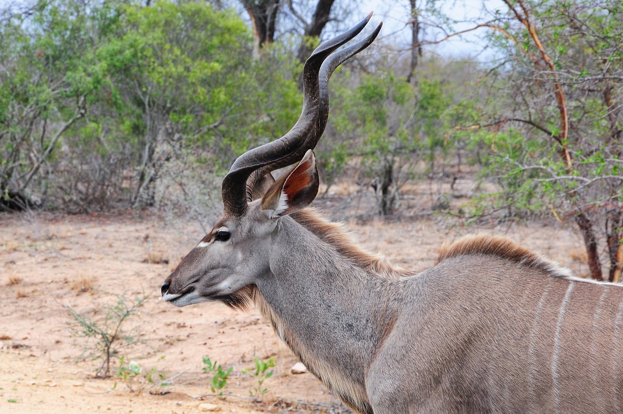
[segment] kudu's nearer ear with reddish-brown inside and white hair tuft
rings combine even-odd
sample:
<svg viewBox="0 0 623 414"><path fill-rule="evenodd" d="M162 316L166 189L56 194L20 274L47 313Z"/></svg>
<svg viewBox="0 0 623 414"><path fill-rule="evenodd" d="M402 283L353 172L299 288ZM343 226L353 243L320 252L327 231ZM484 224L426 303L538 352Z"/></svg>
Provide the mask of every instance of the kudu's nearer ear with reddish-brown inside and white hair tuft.
<svg viewBox="0 0 623 414"><path fill-rule="evenodd" d="M308 150L292 170L283 174L262 198L270 218L280 218L310 205L318 194L316 156Z"/></svg>

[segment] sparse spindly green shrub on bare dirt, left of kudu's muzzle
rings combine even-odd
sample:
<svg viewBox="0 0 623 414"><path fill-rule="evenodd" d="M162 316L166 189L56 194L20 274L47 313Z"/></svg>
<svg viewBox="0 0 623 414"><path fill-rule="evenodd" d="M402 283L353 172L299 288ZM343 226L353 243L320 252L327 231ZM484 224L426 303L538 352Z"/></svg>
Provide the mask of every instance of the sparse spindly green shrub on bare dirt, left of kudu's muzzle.
<svg viewBox="0 0 623 414"><path fill-rule="evenodd" d="M126 330L125 322L143 306L146 299L147 296L136 297L132 304L128 304L125 296L117 296L117 303L114 305L103 305L107 312L101 321L67 307L67 312L73 319L70 322L72 334L87 340L85 350L88 350L90 357L102 360L102 365L95 372L95 378L110 377L110 363L113 358L120 358L119 350L139 342L140 332L136 329L134 332ZM131 372L129 366L127 369Z"/></svg>

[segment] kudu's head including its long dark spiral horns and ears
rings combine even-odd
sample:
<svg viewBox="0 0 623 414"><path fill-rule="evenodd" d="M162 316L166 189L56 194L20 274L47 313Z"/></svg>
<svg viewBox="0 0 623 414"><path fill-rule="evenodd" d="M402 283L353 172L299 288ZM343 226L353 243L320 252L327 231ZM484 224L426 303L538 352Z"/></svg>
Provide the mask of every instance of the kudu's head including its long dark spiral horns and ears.
<svg viewBox="0 0 623 414"><path fill-rule="evenodd" d="M305 62L301 117L283 137L235 160L222 182L221 219L164 281L164 301L186 306L221 300L242 307L248 297L245 289L270 272L270 238L279 219L305 208L318 193L312 149L328 119L329 77L338 65L368 47L382 24L363 41L334 51L353 39L371 16L318 46ZM297 165L275 181L271 171L293 163Z"/></svg>

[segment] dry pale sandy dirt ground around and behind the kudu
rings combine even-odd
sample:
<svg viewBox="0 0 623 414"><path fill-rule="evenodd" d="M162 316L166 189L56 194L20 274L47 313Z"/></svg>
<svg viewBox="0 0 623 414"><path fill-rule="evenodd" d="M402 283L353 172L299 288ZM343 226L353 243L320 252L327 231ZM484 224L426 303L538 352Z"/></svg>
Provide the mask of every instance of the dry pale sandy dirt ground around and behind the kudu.
<svg viewBox="0 0 623 414"><path fill-rule="evenodd" d="M330 201L327 201L330 203ZM442 218L350 223L371 251L385 251L397 264L427 261L443 241L483 229ZM557 223L533 223L508 234L576 272L586 271L582 241ZM235 312L220 303L175 308L163 303L159 286L175 264L202 238L196 223L115 216L0 216L0 413L199 413L199 403L222 412L348 412L309 373L293 375L297 362L257 312ZM140 365L138 377L95 379L101 360L87 357L93 342L72 330L72 308L101 321L118 297L131 303L148 296L128 329L138 343L120 356ZM202 357L232 367L223 392L210 394L211 375ZM275 374L264 383L263 402L249 398L255 379L242 373L254 358L275 358ZM150 383L146 373L153 370ZM171 385L159 387L163 375Z"/></svg>

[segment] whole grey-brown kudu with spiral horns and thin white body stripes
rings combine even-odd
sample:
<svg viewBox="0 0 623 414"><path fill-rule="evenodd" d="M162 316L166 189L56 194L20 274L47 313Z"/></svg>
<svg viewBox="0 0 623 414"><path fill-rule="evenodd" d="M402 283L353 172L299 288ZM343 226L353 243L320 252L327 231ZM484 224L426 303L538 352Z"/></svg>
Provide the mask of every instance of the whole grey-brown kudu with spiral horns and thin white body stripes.
<svg viewBox="0 0 623 414"><path fill-rule="evenodd" d="M573 277L495 236L460 239L428 269L397 269L307 208L329 76L380 26L334 51L369 17L307 60L300 120L235 161L222 218L166 279L164 300L255 304L361 413L621 412L621 287Z"/></svg>

